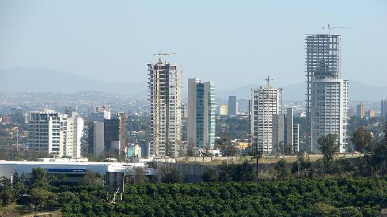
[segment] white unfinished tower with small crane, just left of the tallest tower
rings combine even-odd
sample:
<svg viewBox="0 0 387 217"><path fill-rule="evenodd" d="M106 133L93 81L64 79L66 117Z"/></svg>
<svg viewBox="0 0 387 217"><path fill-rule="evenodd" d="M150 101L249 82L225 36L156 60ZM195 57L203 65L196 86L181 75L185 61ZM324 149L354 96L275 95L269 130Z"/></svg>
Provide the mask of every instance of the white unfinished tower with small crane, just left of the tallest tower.
<svg viewBox="0 0 387 217"><path fill-rule="evenodd" d="M282 112L282 89L261 86L251 90L250 135L254 152L272 154L273 116Z"/></svg>

